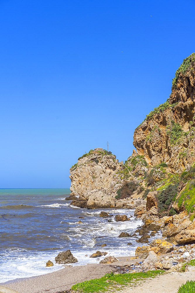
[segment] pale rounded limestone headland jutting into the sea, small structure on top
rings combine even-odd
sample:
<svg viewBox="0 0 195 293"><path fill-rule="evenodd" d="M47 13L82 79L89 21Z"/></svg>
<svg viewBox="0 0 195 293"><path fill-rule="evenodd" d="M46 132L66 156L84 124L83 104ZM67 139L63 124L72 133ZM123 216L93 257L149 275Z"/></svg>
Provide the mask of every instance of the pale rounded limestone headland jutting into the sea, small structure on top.
<svg viewBox="0 0 195 293"><path fill-rule="evenodd" d="M123 164L106 151L89 151L70 168L73 204L80 207L115 207L116 191L122 185Z"/></svg>

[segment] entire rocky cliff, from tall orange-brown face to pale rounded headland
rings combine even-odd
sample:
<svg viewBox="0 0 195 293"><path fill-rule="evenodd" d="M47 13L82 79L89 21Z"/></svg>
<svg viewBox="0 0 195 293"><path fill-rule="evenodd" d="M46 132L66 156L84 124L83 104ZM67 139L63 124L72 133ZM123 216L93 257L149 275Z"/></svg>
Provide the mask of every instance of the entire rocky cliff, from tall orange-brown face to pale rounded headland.
<svg viewBox="0 0 195 293"><path fill-rule="evenodd" d="M155 193L147 212L195 218L195 53L184 59L170 98L154 108L134 132L125 164L107 151L89 151L70 169L73 204L79 207L139 207Z"/></svg>

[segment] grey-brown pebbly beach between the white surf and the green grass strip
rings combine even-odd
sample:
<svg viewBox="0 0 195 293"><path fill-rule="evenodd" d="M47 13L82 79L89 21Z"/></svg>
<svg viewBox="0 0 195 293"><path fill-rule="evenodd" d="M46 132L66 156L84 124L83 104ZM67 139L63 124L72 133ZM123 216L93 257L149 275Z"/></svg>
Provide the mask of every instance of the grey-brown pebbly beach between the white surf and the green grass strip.
<svg viewBox="0 0 195 293"><path fill-rule="evenodd" d="M115 265L130 265L135 261L130 260L130 258L131 256L118 257L119 261L110 265L88 264L73 267L67 266L56 272L30 278L18 278L0 285L15 289L19 293L56 293L68 290L78 282L103 277L106 273L114 271Z"/></svg>

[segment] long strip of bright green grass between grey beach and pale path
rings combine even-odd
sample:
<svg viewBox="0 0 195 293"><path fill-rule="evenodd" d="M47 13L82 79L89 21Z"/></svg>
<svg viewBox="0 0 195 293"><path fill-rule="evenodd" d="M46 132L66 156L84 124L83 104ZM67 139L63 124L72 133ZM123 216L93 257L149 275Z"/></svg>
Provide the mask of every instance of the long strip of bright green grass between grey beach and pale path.
<svg viewBox="0 0 195 293"><path fill-rule="evenodd" d="M127 273L127 274L117 274L114 275L113 272L106 274L100 279L94 279L89 281L84 281L72 286L72 290L78 292L105 292L111 288L117 289L117 285L130 285L145 278L154 278L157 275L163 273L163 270L148 271L148 272L138 272L138 273Z"/></svg>

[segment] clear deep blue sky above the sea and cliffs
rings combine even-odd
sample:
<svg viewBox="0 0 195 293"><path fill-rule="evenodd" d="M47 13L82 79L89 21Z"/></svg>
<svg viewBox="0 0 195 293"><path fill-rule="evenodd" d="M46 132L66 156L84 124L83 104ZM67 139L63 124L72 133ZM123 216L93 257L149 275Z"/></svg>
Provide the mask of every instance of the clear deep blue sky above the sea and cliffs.
<svg viewBox="0 0 195 293"><path fill-rule="evenodd" d="M95 147L134 129L195 51L195 1L0 0L0 188L69 187Z"/></svg>

